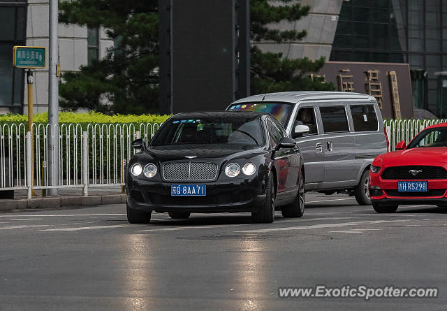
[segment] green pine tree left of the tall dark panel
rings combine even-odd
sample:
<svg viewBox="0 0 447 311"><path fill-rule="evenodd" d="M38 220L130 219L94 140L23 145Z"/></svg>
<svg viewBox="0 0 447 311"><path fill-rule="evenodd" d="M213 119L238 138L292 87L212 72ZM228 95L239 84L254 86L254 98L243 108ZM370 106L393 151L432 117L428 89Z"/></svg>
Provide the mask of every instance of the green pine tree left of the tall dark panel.
<svg viewBox="0 0 447 311"><path fill-rule="evenodd" d="M105 27L115 41L107 57L78 72L67 72L59 86L61 107L114 113L158 110L158 1L61 1L59 21ZM101 99L101 100L100 100ZM104 104L110 101L112 106Z"/></svg>

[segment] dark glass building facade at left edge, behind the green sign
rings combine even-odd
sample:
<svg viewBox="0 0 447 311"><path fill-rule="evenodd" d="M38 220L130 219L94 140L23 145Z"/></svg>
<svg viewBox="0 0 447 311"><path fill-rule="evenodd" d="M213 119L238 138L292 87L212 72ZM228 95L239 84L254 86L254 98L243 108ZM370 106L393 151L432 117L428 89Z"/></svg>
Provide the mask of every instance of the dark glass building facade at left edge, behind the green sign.
<svg viewBox="0 0 447 311"><path fill-rule="evenodd" d="M23 112L24 69L13 68L13 46L25 45L26 0L0 0L0 110Z"/></svg>

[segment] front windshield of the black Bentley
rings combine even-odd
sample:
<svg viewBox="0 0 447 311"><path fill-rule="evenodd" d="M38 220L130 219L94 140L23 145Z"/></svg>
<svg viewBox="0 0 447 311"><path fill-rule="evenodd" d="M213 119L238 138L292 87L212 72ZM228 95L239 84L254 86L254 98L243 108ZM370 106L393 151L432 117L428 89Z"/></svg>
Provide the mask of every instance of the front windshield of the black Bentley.
<svg viewBox="0 0 447 311"><path fill-rule="evenodd" d="M151 142L152 146L185 144L263 145L263 127L259 117L171 118Z"/></svg>

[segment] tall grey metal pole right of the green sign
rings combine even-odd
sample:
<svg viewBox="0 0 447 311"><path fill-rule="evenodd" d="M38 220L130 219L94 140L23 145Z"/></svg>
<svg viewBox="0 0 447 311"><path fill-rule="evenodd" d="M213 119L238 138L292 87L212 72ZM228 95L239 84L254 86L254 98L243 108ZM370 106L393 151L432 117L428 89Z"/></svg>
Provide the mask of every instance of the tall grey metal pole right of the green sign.
<svg viewBox="0 0 447 311"><path fill-rule="evenodd" d="M59 185L59 85L57 80L58 36L57 11L58 0L50 0L50 66L48 71L48 123L51 124L52 137L48 139L48 169L51 180L50 196L57 195Z"/></svg>

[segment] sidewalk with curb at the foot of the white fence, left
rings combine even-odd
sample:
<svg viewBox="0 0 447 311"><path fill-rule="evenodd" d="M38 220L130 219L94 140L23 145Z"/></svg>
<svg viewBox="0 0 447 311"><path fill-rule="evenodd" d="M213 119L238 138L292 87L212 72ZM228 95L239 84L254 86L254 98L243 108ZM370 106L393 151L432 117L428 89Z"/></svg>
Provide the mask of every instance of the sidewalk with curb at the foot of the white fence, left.
<svg viewBox="0 0 447 311"><path fill-rule="evenodd" d="M105 205L126 203L126 194L121 187L89 187L89 196L82 196L82 188L59 189L58 196L37 196L27 199L27 190L16 190L14 199L0 199L1 211L15 211L36 208L75 208L88 205Z"/></svg>

